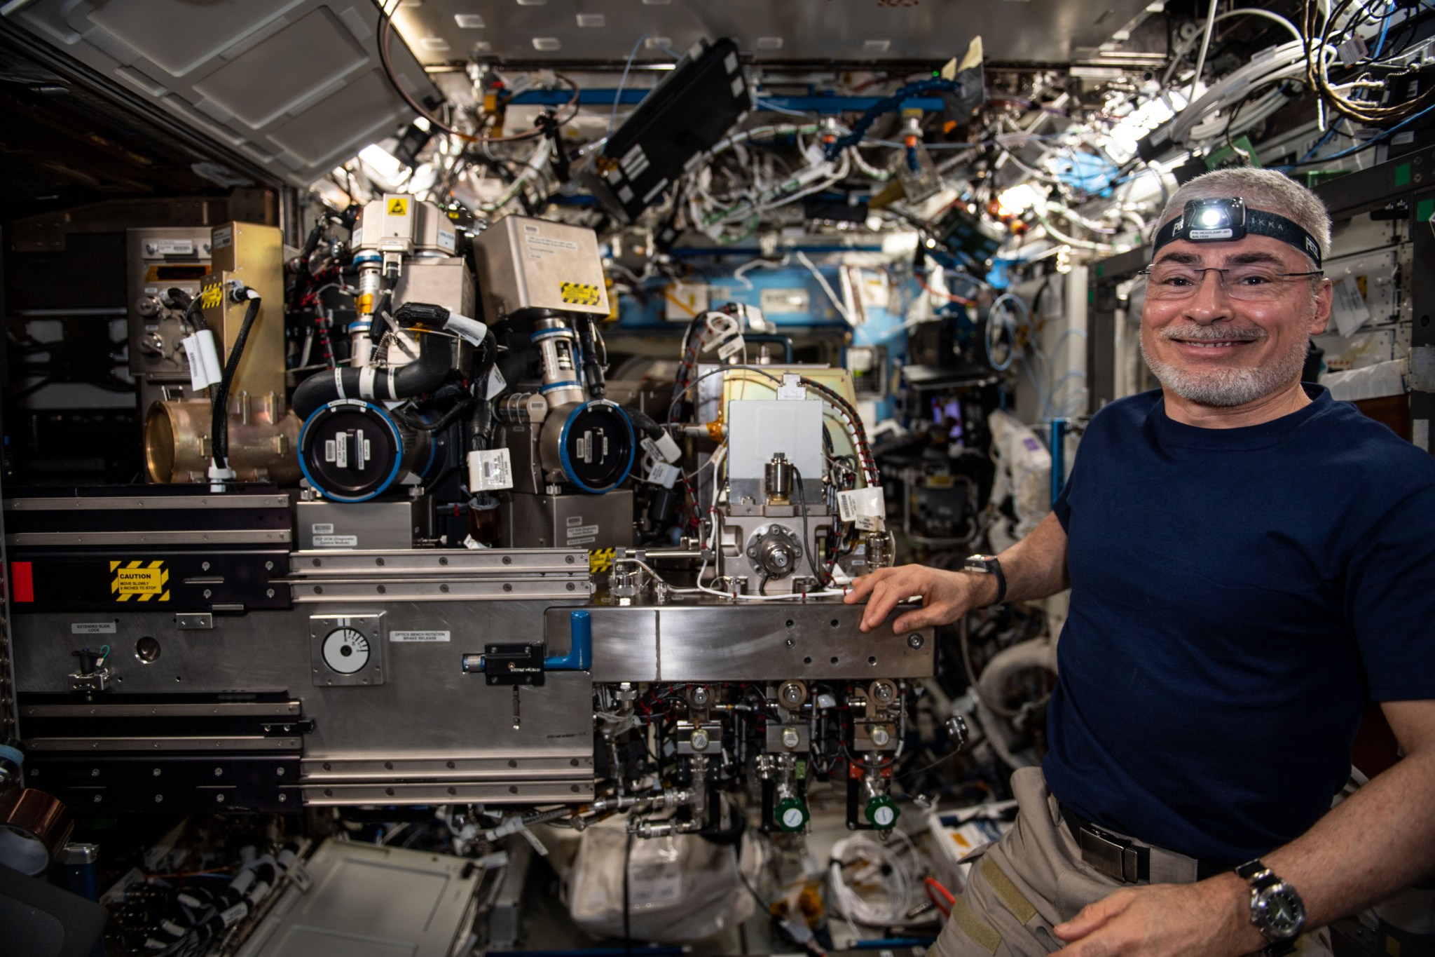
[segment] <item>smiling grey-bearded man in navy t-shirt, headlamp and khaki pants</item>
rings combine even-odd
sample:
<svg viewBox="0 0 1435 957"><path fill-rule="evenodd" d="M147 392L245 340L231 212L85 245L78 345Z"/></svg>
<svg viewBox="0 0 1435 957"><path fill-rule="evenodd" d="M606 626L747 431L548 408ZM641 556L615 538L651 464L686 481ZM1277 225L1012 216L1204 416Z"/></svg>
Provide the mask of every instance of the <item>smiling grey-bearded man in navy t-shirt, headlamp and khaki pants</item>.
<svg viewBox="0 0 1435 957"><path fill-rule="evenodd" d="M1332 920L1435 871L1435 459L1319 386L1330 220L1280 174L1182 187L1141 352L1052 515L971 571L860 578L895 630L1071 587L1050 752L936 950L1326 954ZM993 574L994 572L994 574ZM1405 756L1332 809L1368 702Z"/></svg>

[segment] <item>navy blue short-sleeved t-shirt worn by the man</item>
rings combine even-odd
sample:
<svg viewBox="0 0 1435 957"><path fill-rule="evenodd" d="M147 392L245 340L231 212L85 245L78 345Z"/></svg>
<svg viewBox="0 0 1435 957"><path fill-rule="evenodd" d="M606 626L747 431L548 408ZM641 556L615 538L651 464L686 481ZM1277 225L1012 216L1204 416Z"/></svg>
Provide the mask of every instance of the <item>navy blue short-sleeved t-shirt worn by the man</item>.
<svg viewBox="0 0 1435 957"><path fill-rule="evenodd" d="M1053 508L1052 793L1217 864L1330 809L1368 700L1435 699L1435 458L1307 390L1243 429L1114 402Z"/></svg>

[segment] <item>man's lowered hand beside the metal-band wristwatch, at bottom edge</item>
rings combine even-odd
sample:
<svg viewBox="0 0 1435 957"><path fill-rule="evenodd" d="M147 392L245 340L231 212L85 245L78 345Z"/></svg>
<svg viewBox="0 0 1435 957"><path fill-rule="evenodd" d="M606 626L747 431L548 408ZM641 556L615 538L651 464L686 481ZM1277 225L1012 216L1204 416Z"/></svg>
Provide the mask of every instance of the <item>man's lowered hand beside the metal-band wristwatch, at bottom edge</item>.
<svg viewBox="0 0 1435 957"><path fill-rule="evenodd" d="M1266 946L1234 874L1197 884L1129 887L1055 927L1068 957L1237 957Z"/></svg>

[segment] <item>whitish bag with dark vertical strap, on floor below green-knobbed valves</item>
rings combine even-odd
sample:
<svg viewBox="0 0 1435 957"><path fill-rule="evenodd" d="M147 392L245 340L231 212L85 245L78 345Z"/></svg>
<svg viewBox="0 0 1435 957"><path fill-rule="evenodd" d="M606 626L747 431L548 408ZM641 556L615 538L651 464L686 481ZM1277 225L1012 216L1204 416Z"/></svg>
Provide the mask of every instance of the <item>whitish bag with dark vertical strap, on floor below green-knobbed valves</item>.
<svg viewBox="0 0 1435 957"><path fill-rule="evenodd" d="M583 832L565 884L573 923L594 937L623 935L624 819ZM742 838L743 871L752 884L761 851ZM752 895L738 875L729 845L692 834L633 838L629 857L629 934L633 940L677 944L710 937L752 915Z"/></svg>

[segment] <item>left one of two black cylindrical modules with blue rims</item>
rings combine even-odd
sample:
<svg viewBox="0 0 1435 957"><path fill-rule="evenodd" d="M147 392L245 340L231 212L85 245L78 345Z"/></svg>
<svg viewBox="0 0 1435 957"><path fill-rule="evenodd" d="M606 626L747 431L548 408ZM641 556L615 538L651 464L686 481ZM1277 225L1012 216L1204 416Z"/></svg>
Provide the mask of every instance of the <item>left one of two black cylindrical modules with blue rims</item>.
<svg viewBox="0 0 1435 957"><path fill-rule="evenodd" d="M336 502L366 502L426 471L428 432L409 429L382 406L339 399L320 406L298 433L298 466L309 484Z"/></svg>

